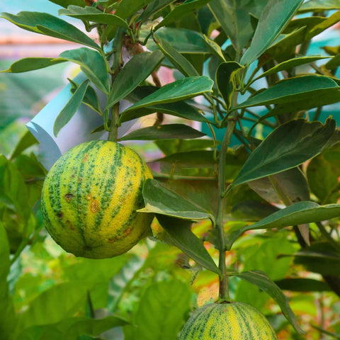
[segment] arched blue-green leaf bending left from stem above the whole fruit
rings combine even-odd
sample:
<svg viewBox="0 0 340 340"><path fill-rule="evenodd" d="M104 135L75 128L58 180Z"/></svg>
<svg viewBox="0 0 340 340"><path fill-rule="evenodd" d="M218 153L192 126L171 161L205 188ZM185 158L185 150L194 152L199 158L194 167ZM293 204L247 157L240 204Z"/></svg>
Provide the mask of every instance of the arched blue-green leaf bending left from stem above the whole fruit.
<svg viewBox="0 0 340 340"><path fill-rule="evenodd" d="M86 77L104 94L108 94L110 89L108 66L100 53L86 47L80 47L60 53L58 59L79 64Z"/></svg>

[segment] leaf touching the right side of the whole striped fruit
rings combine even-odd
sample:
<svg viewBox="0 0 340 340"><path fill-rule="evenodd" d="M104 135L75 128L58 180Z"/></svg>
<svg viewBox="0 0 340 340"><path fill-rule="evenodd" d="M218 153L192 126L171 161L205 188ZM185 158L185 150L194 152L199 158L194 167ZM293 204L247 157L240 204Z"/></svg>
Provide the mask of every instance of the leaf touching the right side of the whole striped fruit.
<svg viewBox="0 0 340 340"><path fill-rule="evenodd" d="M185 220L204 220L211 217L203 208L164 188L155 179L145 181L143 198L145 208L138 210L139 212L154 212Z"/></svg>

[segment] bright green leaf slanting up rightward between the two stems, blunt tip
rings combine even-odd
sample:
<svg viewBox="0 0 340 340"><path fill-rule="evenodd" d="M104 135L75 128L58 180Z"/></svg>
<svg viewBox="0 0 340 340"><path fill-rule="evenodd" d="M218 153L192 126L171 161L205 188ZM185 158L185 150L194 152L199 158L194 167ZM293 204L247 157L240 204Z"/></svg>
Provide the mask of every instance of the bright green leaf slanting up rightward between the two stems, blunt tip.
<svg viewBox="0 0 340 340"><path fill-rule="evenodd" d="M166 84L153 94L143 98L124 112L130 112L136 108L154 106L157 104L172 103L199 96L212 91L213 81L209 77L187 77L170 84ZM123 113L124 114L124 113Z"/></svg>

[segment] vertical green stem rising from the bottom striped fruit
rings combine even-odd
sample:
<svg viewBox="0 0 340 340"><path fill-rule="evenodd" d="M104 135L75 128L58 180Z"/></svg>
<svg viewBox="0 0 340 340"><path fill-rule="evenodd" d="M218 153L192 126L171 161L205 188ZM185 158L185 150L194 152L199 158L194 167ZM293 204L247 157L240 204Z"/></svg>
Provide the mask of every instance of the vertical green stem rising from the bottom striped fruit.
<svg viewBox="0 0 340 340"><path fill-rule="evenodd" d="M217 231L219 233L219 261L218 267L221 271L220 276L220 291L219 291L219 299L220 300L229 300L229 287L228 287L228 277L225 266L225 258L226 258L226 245L225 245L225 229L224 229L224 221L223 217L225 215L225 166L227 162L227 150L230 144L230 140L232 138L232 133L234 132L234 128L237 123L237 112L232 113L227 120L227 130L225 131L225 136L222 141L220 156L218 159L218 206L217 206L217 218L216 225Z"/></svg>

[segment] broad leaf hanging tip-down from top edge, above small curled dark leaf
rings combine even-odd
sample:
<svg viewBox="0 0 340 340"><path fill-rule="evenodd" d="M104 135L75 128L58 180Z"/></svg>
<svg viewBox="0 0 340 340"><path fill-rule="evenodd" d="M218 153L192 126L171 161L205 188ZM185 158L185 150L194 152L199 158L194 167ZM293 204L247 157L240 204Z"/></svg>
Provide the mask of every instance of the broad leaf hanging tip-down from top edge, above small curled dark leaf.
<svg viewBox="0 0 340 340"><path fill-rule="evenodd" d="M259 0L212 0L208 3L210 11L238 52L242 52L253 34L250 13L259 16L265 5L266 1Z"/></svg>

